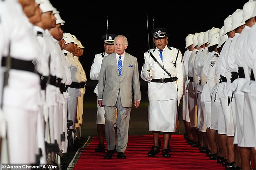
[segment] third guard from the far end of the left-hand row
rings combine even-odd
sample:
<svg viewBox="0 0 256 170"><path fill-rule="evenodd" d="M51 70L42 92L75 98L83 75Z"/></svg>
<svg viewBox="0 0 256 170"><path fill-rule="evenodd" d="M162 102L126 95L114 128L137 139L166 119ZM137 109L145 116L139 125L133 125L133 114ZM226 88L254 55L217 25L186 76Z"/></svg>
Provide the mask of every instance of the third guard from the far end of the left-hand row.
<svg viewBox="0 0 256 170"><path fill-rule="evenodd" d="M81 82L82 82L82 76L80 74L78 65L73 57L72 52L75 51L76 45L75 45L75 39L70 33L63 33L66 41L66 46L62 50L64 55L67 57L69 61L69 68L71 71L71 80L72 83L68 86L67 92L69 94L69 98L67 100L67 117L69 121L69 139L71 140L68 145L73 147L74 139L76 135L75 125L76 125L76 117L77 117L77 107L78 107L78 97L80 97L80 88L81 88Z"/></svg>

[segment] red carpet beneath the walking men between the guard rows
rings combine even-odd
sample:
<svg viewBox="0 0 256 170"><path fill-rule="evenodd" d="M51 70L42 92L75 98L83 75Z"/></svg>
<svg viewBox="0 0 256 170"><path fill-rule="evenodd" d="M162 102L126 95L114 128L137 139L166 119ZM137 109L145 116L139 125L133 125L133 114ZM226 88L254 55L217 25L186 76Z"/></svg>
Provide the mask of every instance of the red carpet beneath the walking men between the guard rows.
<svg viewBox="0 0 256 170"><path fill-rule="evenodd" d="M162 135L160 135L163 141ZM93 137L84 148L73 170L225 170L216 160L209 160L206 154L199 153L197 147L191 147L183 135L172 135L170 140L171 158L162 157L161 152L155 157L148 157L147 152L153 145L152 135L129 136L126 159L104 159L105 153L96 153L98 137ZM106 145L106 144L105 144Z"/></svg>

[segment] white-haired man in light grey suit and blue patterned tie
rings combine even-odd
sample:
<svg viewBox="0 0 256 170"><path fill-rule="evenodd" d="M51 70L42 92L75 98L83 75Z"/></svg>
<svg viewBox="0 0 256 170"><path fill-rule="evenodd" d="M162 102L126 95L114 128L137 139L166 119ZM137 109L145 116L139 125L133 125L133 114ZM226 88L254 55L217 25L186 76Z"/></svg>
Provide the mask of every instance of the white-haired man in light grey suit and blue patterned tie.
<svg viewBox="0 0 256 170"><path fill-rule="evenodd" d="M132 107L132 88L134 107L138 108L141 90L136 57L125 52L127 38L118 35L114 39L115 53L103 58L99 76L98 104L105 109L105 135L107 153L105 159L112 158L115 151L115 110L117 116L117 158L125 159L130 111Z"/></svg>

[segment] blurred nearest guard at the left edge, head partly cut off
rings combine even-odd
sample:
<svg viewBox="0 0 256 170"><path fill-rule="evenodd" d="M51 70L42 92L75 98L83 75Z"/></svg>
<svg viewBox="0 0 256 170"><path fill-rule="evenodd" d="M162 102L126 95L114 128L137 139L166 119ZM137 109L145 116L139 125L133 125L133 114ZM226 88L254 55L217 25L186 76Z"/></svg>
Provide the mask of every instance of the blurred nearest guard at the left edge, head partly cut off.
<svg viewBox="0 0 256 170"><path fill-rule="evenodd" d="M33 132L40 106L40 77L35 64L42 50L29 17L35 14L38 4L34 0L26 3L6 0L1 5L1 74L8 75L3 82L2 111L7 122L8 148L5 149L9 158L1 163L34 164L37 135Z"/></svg>

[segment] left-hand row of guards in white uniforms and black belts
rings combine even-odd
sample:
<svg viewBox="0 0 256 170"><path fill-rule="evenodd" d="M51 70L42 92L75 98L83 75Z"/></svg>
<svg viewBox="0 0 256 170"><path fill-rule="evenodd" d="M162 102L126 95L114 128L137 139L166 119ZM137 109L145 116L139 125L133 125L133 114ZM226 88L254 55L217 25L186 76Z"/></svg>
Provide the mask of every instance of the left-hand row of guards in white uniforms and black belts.
<svg viewBox="0 0 256 170"><path fill-rule="evenodd" d="M81 137L84 46L49 0L0 0L1 164L57 164Z"/></svg>

